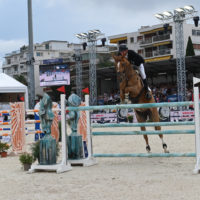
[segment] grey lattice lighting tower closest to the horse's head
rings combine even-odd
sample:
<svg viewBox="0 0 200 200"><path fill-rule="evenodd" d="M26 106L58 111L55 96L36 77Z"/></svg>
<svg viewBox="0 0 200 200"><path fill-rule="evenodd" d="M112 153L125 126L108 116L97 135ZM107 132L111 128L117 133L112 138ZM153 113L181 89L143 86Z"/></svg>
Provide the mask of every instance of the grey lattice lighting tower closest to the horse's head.
<svg viewBox="0 0 200 200"><path fill-rule="evenodd" d="M89 48L89 81L90 81L90 105L97 105L97 81L96 81L96 35L88 35Z"/></svg>

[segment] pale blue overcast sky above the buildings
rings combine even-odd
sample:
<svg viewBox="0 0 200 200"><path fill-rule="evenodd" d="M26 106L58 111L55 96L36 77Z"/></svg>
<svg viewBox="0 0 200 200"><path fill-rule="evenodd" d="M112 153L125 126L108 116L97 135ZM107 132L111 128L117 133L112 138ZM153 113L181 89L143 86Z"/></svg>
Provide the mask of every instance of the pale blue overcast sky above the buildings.
<svg viewBox="0 0 200 200"><path fill-rule="evenodd" d="M75 34L91 29L106 36L134 32L158 24L155 13L185 5L200 11L200 0L32 0L34 43L78 42ZM27 21L27 0L0 0L0 66L5 53L28 43Z"/></svg>

